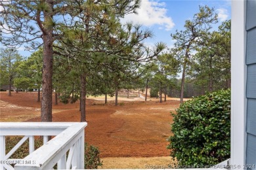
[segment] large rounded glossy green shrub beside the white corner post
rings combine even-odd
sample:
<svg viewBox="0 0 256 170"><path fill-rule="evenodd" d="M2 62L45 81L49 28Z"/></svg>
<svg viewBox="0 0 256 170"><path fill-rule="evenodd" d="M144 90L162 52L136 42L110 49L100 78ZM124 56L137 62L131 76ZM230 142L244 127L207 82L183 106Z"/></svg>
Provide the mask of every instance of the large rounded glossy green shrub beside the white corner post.
<svg viewBox="0 0 256 170"><path fill-rule="evenodd" d="M230 90L193 98L176 111L167 148L179 165L215 165L230 158Z"/></svg>

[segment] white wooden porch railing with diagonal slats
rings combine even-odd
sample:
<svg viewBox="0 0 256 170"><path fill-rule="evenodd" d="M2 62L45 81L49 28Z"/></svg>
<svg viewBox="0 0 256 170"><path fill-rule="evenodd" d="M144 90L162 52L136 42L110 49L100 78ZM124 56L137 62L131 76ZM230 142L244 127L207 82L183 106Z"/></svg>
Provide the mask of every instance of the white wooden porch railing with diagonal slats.
<svg viewBox="0 0 256 170"><path fill-rule="evenodd" d="M86 122L1 122L0 170L2 169L84 169L84 143ZM24 136L5 153L6 136ZM34 137L43 136L43 146L34 150ZM56 136L50 141L48 136ZM29 139L30 154L24 159L9 159ZM68 152L69 150L69 152ZM68 158L66 156L68 152ZM10 164L15 164L12 167Z"/></svg>

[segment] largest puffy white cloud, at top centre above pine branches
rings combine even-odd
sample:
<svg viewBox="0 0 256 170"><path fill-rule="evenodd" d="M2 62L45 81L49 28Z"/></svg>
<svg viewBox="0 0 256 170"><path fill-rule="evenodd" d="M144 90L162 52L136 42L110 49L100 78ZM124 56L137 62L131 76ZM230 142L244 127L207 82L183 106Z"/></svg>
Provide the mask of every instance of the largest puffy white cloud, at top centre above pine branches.
<svg viewBox="0 0 256 170"><path fill-rule="evenodd" d="M142 0L137 12L138 14L126 15L121 22L135 22L145 26L161 25L160 29L165 27L166 31L171 30L175 25L171 17L166 15L165 3Z"/></svg>

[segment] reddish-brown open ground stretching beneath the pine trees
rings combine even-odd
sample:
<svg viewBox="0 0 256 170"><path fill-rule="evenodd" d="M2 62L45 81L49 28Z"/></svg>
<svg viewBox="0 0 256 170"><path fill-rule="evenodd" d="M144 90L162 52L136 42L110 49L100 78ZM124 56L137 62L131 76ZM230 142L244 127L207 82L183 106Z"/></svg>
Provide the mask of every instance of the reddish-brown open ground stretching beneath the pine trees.
<svg viewBox="0 0 256 170"><path fill-rule="evenodd" d="M40 122L37 93L0 93L0 122ZM8 103L7 103L8 102ZM124 101L104 105L87 99L85 141L97 146L102 158L169 156L170 111L179 101ZM79 102L53 104L53 122L79 122Z"/></svg>

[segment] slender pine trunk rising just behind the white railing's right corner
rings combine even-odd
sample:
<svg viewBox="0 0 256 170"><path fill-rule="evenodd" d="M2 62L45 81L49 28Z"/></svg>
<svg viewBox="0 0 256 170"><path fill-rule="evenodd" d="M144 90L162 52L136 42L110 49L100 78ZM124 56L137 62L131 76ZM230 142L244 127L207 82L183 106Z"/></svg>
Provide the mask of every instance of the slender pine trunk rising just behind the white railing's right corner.
<svg viewBox="0 0 256 170"><path fill-rule="evenodd" d="M85 96L86 96L86 76L81 75L81 122L85 122Z"/></svg>

